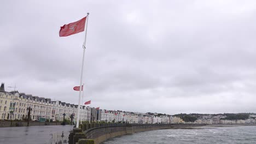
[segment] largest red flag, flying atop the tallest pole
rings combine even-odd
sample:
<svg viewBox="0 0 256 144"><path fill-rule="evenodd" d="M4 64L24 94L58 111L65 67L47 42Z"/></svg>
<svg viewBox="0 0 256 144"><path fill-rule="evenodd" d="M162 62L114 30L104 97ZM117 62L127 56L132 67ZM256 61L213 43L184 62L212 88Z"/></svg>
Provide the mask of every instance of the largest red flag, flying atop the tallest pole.
<svg viewBox="0 0 256 144"><path fill-rule="evenodd" d="M86 16L76 22L68 23L67 25L63 25L60 29L60 37L67 37L68 35L80 33L84 31Z"/></svg>

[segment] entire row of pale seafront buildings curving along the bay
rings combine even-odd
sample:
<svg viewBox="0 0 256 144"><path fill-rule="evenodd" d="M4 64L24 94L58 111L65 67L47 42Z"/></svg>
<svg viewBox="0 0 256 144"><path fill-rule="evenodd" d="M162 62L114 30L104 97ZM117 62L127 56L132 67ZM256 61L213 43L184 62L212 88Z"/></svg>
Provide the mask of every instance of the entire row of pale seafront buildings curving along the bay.
<svg viewBox="0 0 256 144"><path fill-rule="evenodd" d="M40 121L63 121L65 119L73 122L77 119L78 105L65 103L59 100L51 100L33 96L31 94L19 93L18 91L4 91L4 83L0 87L0 119L26 119L29 107L31 110L31 120ZM255 123L256 115L251 115L248 119L226 120L226 116L203 116L194 122L198 124L244 124ZM91 122L119 122L119 123L185 123L182 118L170 115L158 115L158 113L138 113L127 111L97 110L94 107L81 106L79 121Z"/></svg>

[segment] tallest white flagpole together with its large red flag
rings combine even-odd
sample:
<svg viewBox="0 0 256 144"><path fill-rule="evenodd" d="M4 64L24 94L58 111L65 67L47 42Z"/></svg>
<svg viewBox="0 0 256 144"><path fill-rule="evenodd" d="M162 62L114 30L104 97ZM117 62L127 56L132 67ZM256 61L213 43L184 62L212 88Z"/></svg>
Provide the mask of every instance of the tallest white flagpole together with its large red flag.
<svg viewBox="0 0 256 144"><path fill-rule="evenodd" d="M87 26L88 26L88 18L89 18L89 13L87 13L87 16L85 16L83 19L69 23L67 25L63 25L60 29L60 37L67 37L72 34L80 33L85 31L85 36L84 36L84 44L83 44L83 61L82 61L82 70L81 70L81 77L80 77L80 86L79 86L79 99L78 99L78 111L77 111L77 125L76 127L78 128L79 126L79 117L80 117L80 101L81 101L81 91L83 91L82 87L82 79L83 79L83 69L84 69L84 53L85 53L85 44L86 44L86 34L87 34ZM81 88L82 87L82 88ZM75 88L74 88L75 90Z"/></svg>

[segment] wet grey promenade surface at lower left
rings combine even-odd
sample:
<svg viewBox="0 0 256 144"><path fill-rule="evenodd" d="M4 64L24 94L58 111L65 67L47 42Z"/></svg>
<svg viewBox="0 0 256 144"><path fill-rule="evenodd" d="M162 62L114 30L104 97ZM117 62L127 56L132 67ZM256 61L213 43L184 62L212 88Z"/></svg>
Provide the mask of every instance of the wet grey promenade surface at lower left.
<svg viewBox="0 0 256 144"><path fill-rule="evenodd" d="M74 125L0 128L1 144L66 144Z"/></svg>

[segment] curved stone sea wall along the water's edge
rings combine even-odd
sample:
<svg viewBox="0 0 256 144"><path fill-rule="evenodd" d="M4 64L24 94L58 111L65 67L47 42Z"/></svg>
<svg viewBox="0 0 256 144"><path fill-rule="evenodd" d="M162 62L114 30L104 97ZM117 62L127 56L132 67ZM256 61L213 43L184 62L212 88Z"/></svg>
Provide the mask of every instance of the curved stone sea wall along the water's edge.
<svg viewBox="0 0 256 144"><path fill-rule="evenodd" d="M84 124L74 128L69 135L69 144L99 144L110 138L142 131L200 127L206 124Z"/></svg>

